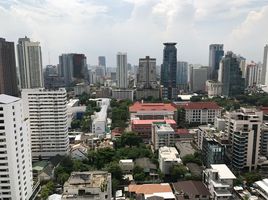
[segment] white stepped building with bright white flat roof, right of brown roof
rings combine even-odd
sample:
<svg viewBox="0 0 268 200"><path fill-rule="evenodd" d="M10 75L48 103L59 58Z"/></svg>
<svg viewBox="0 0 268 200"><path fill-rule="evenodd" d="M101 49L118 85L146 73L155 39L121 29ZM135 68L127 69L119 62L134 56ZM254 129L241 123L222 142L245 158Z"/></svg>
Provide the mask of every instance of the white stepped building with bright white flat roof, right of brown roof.
<svg viewBox="0 0 268 200"><path fill-rule="evenodd" d="M225 164L211 165L211 168L203 172L203 182L213 200L234 199L232 196L234 179L235 175Z"/></svg>

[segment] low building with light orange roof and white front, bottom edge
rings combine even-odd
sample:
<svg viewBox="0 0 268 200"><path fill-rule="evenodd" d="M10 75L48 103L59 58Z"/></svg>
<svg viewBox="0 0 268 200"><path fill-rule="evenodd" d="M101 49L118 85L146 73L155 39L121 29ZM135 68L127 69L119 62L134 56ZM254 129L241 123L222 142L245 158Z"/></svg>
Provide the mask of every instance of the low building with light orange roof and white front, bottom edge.
<svg viewBox="0 0 268 200"><path fill-rule="evenodd" d="M134 199L163 199L175 200L175 195L168 183L129 185L128 192ZM154 197L154 198L153 198ZM158 197L158 198L157 198Z"/></svg>

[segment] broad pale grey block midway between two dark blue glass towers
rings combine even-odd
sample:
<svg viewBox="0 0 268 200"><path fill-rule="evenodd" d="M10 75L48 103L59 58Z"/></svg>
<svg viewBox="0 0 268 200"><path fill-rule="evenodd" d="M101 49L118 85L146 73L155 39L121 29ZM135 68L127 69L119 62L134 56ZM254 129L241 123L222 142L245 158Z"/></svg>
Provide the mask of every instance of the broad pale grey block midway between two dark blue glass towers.
<svg viewBox="0 0 268 200"><path fill-rule="evenodd" d="M206 81L208 79L208 67L200 66L193 67L192 71L192 80L191 80L191 91L200 92L206 90Z"/></svg>

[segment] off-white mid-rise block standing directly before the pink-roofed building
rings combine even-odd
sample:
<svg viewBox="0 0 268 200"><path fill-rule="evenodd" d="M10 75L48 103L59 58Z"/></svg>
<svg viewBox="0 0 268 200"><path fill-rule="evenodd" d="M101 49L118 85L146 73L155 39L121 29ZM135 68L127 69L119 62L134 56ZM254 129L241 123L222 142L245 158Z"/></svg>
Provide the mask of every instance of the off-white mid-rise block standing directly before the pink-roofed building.
<svg viewBox="0 0 268 200"><path fill-rule="evenodd" d="M153 123L152 124L152 144L154 150L160 147L170 147L175 144L175 131L166 123Z"/></svg>

